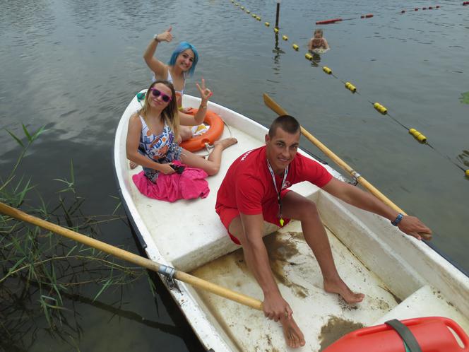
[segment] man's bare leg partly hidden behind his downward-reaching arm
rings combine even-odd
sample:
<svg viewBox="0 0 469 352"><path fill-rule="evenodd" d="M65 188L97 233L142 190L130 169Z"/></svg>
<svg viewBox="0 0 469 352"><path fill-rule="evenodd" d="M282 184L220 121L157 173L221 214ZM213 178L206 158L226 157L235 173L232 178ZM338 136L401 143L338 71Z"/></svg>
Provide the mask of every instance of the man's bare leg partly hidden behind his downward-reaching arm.
<svg viewBox="0 0 469 352"><path fill-rule="evenodd" d="M243 245L244 260L246 260L246 264L249 270L251 270L251 272L254 272L251 269L253 266L253 259L251 258L249 251L244 250L244 244L247 242L247 239L244 235L244 229L241 223L241 218L239 218L239 216L232 220L229 229L230 233L232 233L232 235L235 235L235 237L237 237L239 242L241 242L241 244ZM282 323L283 335L285 336L285 342L288 346L293 348L304 346L304 335L299 329L293 317L291 317L290 319L286 319L285 317L283 317L282 319L280 319L280 323Z"/></svg>

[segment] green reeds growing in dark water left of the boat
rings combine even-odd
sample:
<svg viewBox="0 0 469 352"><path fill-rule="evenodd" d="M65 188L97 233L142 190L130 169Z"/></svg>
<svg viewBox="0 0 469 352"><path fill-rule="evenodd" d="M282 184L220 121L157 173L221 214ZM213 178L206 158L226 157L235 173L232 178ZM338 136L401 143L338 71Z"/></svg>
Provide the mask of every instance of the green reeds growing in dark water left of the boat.
<svg viewBox="0 0 469 352"><path fill-rule="evenodd" d="M116 196L112 197L119 202L112 213L97 216L83 213L85 198L76 190L72 160L69 180L54 179L59 185L57 199L44 201L32 177L18 175L18 166L32 143L47 130L43 126L30 132L24 124L22 127L24 142L6 130L21 149L6 178L0 175L0 201L90 237L100 237L102 225L114 221L126 223L126 216L118 213L121 204ZM156 295L155 283L146 269L126 266L94 248L3 214L0 233L0 350L28 350L42 329L79 351L83 329L80 315L74 309L76 303L106 305L97 299L114 290L117 292L112 292L112 296L118 297L117 302L106 307L121 316L122 290L144 276L153 297ZM90 293L93 297L87 296Z"/></svg>

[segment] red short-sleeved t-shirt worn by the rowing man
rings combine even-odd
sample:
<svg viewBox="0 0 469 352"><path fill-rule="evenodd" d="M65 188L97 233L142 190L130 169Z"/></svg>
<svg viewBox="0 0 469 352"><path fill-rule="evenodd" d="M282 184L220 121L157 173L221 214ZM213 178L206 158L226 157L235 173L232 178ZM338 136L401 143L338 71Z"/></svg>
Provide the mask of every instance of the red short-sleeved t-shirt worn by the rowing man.
<svg viewBox="0 0 469 352"><path fill-rule="evenodd" d="M283 189L303 181L323 187L331 178L332 175L322 165L297 153L288 166ZM275 175L277 187L282 181L283 174ZM262 146L247 151L232 163L218 189L215 209L227 206L247 215L259 214L263 204L277 201L277 192L267 166L266 146Z"/></svg>

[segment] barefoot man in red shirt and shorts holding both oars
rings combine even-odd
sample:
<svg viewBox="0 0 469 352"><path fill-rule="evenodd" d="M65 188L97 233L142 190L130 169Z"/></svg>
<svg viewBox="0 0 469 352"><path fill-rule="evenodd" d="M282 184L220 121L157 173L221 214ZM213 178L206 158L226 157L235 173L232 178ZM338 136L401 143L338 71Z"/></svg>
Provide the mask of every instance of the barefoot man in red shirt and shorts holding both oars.
<svg viewBox="0 0 469 352"><path fill-rule="evenodd" d="M244 259L262 288L264 315L275 322L280 320L290 347L304 346L304 335L275 283L262 240L263 221L278 226L292 218L301 221L304 239L321 268L324 290L338 293L347 303L359 303L364 295L352 292L340 278L316 204L287 187L309 181L353 206L388 218L401 231L419 240L418 233L432 233L419 219L397 213L371 194L332 177L314 160L298 154L299 136L295 117L283 115L275 119L266 135L266 146L248 151L232 163L215 205L231 239L242 245Z"/></svg>

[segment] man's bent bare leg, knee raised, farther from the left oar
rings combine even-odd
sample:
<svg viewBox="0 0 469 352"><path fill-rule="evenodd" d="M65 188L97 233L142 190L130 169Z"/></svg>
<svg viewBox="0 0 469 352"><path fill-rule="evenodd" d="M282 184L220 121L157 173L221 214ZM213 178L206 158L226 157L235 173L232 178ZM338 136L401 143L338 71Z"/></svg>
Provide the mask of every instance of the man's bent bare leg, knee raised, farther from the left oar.
<svg viewBox="0 0 469 352"><path fill-rule="evenodd" d="M304 240L316 257L324 280L324 291L338 293L347 303L359 303L363 293L354 293L340 278L332 257L331 245L319 218L316 204L295 192L288 192L283 201L283 216L302 223Z"/></svg>

